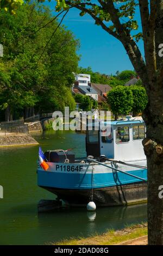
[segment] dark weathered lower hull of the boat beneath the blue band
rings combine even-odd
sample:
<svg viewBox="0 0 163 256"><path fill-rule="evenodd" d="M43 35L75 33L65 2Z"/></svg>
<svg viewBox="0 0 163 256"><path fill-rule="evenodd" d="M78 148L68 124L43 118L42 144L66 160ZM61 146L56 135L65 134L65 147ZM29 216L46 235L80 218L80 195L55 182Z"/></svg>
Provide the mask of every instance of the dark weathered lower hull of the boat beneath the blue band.
<svg viewBox="0 0 163 256"><path fill-rule="evenodd" d="M42 187L57 195L71 206L85 206L91 200L92 190L65 190ZM147 200L147 184L140 182L130 185L96 188L93 201L97 206L117 206L144 203Z"/></svg>

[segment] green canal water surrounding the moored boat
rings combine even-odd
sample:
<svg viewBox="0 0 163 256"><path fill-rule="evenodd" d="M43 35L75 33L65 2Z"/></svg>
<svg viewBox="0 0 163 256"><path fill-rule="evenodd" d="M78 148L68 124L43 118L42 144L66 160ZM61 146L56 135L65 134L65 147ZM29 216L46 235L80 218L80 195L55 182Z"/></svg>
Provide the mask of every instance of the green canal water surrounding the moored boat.
<svg viewBox="0 0 163 256"><path fill-rule="evenodd" d="M43 150L73 148L85 156L85 135L73 131L47 131L33 135ZM69 209L38 214L40 199L54 195L37 187L36 161L39 146L0 149L0 245L43 245L69 237L102 234L147 220L147 206L101 208L96 212Z"/></svg>

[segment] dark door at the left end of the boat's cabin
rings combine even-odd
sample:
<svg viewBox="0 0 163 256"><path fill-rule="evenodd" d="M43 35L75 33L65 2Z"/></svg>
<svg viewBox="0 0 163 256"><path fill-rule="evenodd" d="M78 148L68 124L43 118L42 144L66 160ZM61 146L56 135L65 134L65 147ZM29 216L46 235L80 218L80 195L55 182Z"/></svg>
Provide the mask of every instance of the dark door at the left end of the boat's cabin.
<svg viewBox="0 0 163 256"><path fill-rule="evenodd" d="M86 155L99 157L100 154L100 142L99 142L99 130L87 130L86 131Z"/></svg>

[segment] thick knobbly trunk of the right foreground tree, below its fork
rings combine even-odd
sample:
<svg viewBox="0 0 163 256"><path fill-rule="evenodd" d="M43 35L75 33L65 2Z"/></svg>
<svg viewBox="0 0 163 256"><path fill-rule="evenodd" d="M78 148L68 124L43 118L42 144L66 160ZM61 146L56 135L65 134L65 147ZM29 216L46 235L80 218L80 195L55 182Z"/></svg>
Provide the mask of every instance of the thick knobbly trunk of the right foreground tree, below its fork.
<svg viewBox="0 0 163 256"><path fill-rule="evenodd" d="M147 137L143 140L148 166L148 245L163 245L163 89L152 86L149 102L143 113ZM163 194L163 193L162 193Z"/></svg>

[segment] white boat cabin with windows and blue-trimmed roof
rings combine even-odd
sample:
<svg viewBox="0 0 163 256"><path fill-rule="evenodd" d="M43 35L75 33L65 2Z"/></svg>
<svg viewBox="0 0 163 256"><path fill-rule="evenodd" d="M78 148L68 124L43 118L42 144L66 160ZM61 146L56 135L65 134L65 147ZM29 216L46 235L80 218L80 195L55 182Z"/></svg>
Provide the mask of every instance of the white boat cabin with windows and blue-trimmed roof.
<svg viewBox="0 0 163 256"><path fill-rule="evenodd" d="M146 159L142 146L146 132L143 120L111 121L103 124L110 125L110 132L107 135L104 129L97 130L99 123L87 124L87 156L105 155L108 159L119 161ZM89 130L90 126L92 126L91 130Z"/></svg>

